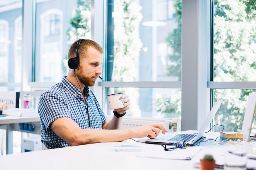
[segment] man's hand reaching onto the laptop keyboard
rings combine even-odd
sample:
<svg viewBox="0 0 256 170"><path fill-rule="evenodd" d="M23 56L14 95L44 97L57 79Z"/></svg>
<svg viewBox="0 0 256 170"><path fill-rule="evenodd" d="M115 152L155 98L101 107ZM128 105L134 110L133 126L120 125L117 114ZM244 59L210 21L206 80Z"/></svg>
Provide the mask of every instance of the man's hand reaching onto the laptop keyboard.
<svg viewBox="0 0 256 170"><path fill-rule="evenodd" d="M157 135L159 135L160 131L162 131L162 133L166 133L166 129L164 128L164 126L162 124L146 124L144 126L139 126L136 128L133 128L133 133L134 133L134 137L137 138L141 138L141 137L149 137L149 138L154 138Z"/></svg>

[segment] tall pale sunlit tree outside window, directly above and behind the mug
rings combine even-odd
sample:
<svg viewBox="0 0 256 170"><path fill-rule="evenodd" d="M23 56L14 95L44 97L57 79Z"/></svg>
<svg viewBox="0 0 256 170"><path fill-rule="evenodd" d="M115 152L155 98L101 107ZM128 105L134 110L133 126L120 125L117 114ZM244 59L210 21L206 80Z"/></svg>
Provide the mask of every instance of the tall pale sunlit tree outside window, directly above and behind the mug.
<svg viewBox="0 0 256 170"><path fill-rule="evenodd" d="M136 63L142 43L139 39L141 6L134 0L114 1L114 81L135 81ZM130 98L128 116L140 117L137 88L115 88L115 93L122 92Z"/></svg>

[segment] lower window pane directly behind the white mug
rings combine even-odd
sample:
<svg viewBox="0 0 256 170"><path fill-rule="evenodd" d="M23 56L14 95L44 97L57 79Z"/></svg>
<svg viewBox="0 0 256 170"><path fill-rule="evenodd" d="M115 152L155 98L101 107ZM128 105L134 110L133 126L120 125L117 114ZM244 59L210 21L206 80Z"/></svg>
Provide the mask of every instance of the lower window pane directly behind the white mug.
<svg viewBox="0 0 256 170"><path fill-rule="evenodd" d="M177 130L180 131L181 89L166 88L106 88L108 94L123 93L130 98L130 109L126 116L150 118L178 118ZM106 113L113 115L108 103Z"/></svg>

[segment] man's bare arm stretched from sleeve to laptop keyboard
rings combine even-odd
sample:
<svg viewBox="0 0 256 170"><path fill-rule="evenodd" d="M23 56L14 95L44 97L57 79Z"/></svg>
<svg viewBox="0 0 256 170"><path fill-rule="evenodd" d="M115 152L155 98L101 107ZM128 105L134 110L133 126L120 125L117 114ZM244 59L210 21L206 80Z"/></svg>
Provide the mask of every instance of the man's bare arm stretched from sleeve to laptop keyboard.
<svg viewBox="0 0 256 170"><path fill-rule="evenodd" d="M58 118L50 124L50 128L71 146L99 142L120 142L132 137L147 136L153 138L160 133L160 130L163 134L167 132L162 124L148 124L125 130L81 129L70 118Z"/></svg>

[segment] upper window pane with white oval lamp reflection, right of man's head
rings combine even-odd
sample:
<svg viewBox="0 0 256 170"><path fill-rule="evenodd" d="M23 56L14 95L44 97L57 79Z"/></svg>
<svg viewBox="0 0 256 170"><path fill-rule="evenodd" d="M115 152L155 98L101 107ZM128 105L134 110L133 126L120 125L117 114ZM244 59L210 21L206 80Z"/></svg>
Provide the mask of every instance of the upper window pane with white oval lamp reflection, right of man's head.
<svg viewBox="0 0 256 170"><path fill-rule="evenodd" d="M107 81L180 81L181 0L115 0L108 14Z"/></svg>

